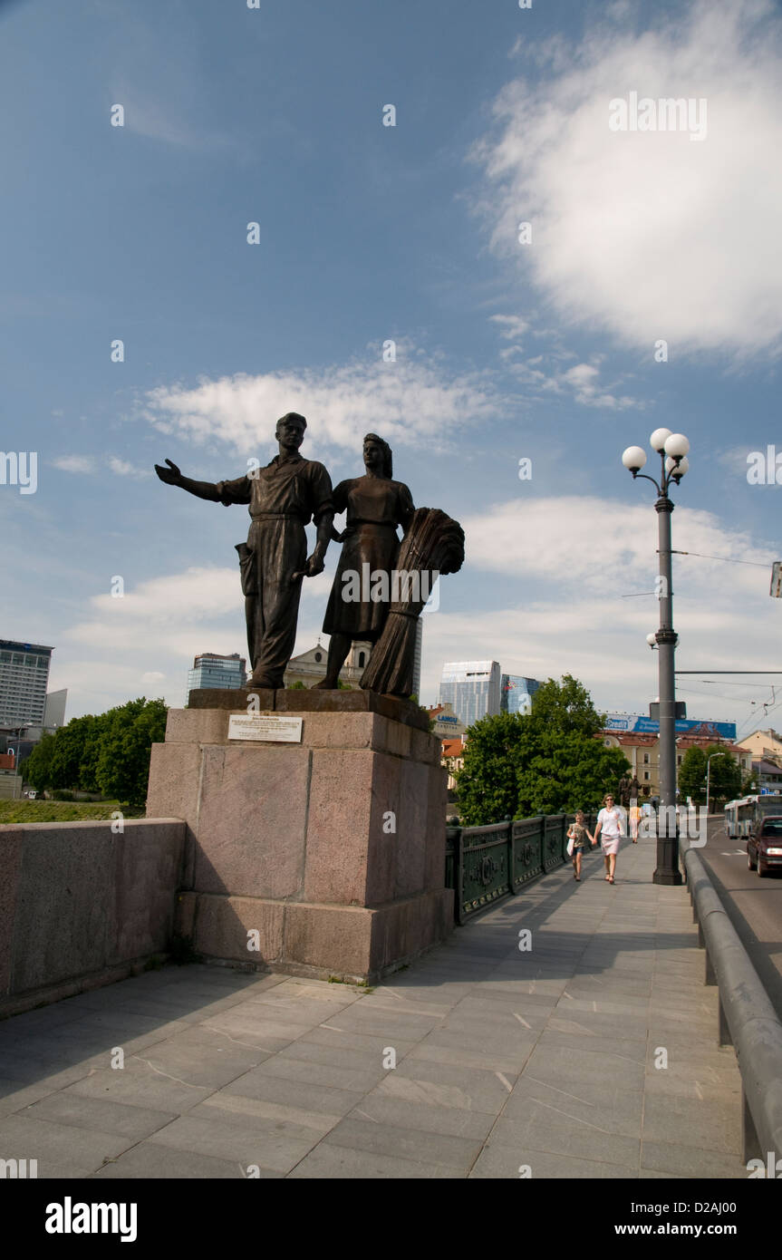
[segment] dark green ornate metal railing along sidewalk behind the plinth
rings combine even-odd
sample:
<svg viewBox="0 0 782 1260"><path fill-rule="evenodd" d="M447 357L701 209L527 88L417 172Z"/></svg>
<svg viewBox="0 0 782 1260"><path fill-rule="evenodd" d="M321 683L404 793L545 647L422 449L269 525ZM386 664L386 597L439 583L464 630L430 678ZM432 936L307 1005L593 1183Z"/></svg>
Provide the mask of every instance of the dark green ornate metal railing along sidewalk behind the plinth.
<svg viewBox="0 0 782 1260"><path fill-rule="evenodd" d="M447 827L446 888L455 891L456 922L465 924L477 911L562 866L573 819L573 814L539 814L487 827ZM593 834L596 820L596 814L586 815Z"/></svg>

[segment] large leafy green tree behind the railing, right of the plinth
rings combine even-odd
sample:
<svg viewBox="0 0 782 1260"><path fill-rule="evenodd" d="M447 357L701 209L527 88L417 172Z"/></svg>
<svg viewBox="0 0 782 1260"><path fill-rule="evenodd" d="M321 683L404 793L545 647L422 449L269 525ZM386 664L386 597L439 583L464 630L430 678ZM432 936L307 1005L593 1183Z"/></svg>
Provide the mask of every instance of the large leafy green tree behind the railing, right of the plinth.
<svg viewBox="0 0 782 1260"><path fill-rule="evenodd" d="M575 678L549 678L528 716L500 713L470 728L457 776L460 815L480 825L502 818L592 810L630 770L596 735L604 717Z"/></svg>

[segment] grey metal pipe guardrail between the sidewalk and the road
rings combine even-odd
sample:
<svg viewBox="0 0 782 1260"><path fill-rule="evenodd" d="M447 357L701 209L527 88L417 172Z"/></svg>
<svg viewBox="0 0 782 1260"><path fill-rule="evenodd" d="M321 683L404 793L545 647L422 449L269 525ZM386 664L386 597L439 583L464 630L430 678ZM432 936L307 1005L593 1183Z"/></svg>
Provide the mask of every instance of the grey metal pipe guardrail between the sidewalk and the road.
<svg viewBox="0 0 782 1260"><path fill-rule="evenodd" d="M733 1046L742 1074L744 1160L782 1157L782 1023L728 917L698 852L681 838L705 983L719 987L720 1046Z"/></svg>

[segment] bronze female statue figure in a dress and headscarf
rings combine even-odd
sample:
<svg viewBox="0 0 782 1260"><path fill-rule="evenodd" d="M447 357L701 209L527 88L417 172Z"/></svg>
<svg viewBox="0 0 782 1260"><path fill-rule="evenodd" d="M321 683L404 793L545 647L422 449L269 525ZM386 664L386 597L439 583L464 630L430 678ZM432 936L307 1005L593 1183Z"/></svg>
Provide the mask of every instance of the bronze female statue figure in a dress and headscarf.
<svg viewBox="0 0 782 1260"><path fill-rule="evenodd" d="M343 534L331 533L343 552L324 619L324 634L331 636L326 677L316 684L332 690L351 643L374 644L380 638L390 595L378 598L378 593L392 590L399 554L397 527L402 525L404 537L416 510L408 488L393 480L390 446L377 433L364 438L364 476L340 481L334 490L334 512L346 512L348 522Z"/></svg>

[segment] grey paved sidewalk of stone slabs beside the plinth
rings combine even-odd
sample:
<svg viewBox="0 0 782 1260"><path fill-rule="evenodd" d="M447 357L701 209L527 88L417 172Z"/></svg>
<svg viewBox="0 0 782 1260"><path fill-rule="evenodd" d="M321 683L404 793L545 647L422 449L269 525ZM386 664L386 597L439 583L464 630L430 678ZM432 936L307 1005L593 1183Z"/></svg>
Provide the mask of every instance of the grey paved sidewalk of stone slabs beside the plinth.
<svg viewBox="0 0 782 1260"><path fill-rule="evenodd" d="M581 885L547 876L369 993L167 966L8 1019L0 1158L76 1178L745 1178L735 1057L654 848L623 844L613 887L594 854Z"/></svg>

